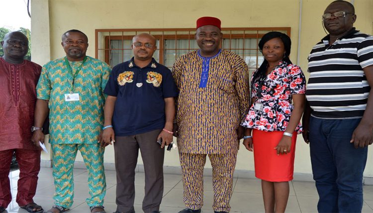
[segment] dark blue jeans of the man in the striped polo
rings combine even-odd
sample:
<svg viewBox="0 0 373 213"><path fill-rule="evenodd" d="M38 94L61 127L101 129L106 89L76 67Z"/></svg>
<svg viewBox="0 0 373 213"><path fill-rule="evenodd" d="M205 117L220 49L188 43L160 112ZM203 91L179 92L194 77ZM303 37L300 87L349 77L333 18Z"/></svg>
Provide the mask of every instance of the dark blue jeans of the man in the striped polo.
<svg viewBox="0 0 373 213"><path fill-rule="evenodd" d="M360 120L310 119L310 153L319 213L362 211L368 147L356 149L350 143Z"/></svg>

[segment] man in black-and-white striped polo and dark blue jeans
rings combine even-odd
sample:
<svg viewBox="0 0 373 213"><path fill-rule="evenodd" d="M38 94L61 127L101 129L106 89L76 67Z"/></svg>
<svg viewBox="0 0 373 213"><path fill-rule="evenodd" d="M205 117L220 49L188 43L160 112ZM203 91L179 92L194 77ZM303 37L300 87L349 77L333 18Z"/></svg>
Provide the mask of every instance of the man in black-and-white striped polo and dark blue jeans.
<svg viewBox="0 0 373 213"><path fill-rule="evenodd" d="M320 197L317 208L361 212L363 171L373 142L373 37L353 27L350 2L333 1L322 18L329 35L308 57L309 105L303 115L303 138L310 143Z"/></svg>

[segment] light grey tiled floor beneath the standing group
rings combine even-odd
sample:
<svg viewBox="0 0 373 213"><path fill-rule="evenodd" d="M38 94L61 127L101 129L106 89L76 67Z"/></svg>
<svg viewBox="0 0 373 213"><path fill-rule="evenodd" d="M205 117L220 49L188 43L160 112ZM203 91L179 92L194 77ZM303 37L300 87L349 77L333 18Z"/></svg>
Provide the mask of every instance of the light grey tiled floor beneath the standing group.
<svg viewBox="0 0 373 213"><path fill-rule="evenodd" d="M9 175L13 201L7 208L8 213L27 213L20 209L15 203L16 184L19 171L13 171ZM115 171L106 172L107 192L105 197L105 210L112 213L115 205ZM75 199L72 210L69 213L89 213L85 203L88 197L87 171L84 169L74 170ZM136 198L135 210L141 213L141 203L144 196L144 173L136 173ZM39 173L39 182L34 200L37 204L48 210L53 205L54 185L51 168L42 168ZM364 186L364 213L373 213L373 186ZM211 176L204 178L204 206L203 213L212 213L212 181ZM317 192L313 182L292 181L290 182L290 196L287 204L287 213L315 213L317 204ZM260 180L234 178L234 192L230 202L231 213L262 213L264 212ZM178 213L184 209L183 183L181 175L165 174L165 189L160 211L162 213ZM6 211L5 211L6 213Z"/></svg>

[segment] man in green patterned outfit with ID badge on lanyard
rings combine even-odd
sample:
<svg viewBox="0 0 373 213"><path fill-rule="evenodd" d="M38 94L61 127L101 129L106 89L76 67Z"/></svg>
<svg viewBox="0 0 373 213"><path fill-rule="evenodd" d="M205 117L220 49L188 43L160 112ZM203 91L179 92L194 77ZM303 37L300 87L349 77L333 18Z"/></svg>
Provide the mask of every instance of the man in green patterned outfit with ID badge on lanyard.
<svg viewBox="0 0 373 213"><path fill-rule="evenodd" d="M49 213L61 213L73 205L74 161L79 150L88 169L91 198L86 202L93 213L104 213L106 192L103 168L104 148L97 143L103 124L103 105L110 67L86 56L87 36L79 30L62 35L66 57L44 65L36 87L37 102L33 142L44 142L41 126L49 112L55 205Z"/></svg>

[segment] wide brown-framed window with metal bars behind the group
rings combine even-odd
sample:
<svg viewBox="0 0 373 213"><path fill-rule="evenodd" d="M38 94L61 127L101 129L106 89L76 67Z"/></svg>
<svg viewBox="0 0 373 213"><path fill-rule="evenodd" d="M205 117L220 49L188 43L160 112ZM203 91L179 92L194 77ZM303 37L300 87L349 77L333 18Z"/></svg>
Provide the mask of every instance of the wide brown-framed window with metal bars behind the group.
<svg viewBox="0 0 373 213"><path fill-rule="evenodd" d="M290 36L290 27L273 28L222 28L222 49L228 49L241 56L255 71L263 62L258 49L260 38L267 32L280 31ZM194 28L186 29L96 29L95 57L111 67L132 58L132 37L140 33L149 33L157 40L157 50L153 57L168 68L172 68L176 59L183 54L198 50L194 40Z"/></svg>

